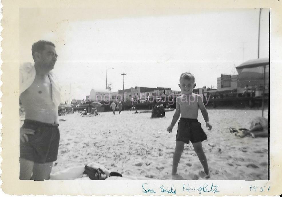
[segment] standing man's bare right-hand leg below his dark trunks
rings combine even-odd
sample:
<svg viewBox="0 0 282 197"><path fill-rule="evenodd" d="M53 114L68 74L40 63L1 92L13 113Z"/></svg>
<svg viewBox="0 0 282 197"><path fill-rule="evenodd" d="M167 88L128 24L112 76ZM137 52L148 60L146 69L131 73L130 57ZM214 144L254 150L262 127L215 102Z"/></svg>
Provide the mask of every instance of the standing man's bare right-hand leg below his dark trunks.
<svg viewBox="0 0 282 197"><path fill-rule="evenodd" d="M53 162L47 162L45 164L34 163L32 180L35 181L49 180L52 166L53 166Z"/></svg>

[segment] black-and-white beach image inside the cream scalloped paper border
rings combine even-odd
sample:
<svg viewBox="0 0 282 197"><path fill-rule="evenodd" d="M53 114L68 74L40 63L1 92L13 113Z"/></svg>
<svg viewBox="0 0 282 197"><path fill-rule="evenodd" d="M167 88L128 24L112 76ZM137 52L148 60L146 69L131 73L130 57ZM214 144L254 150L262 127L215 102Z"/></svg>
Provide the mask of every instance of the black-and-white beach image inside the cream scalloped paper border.
<svg viewBox="0 0 282 197"><path fill-rule="evenodd" d="M270 9L61 11L19 12L20 180L268 179Z"/></svg>

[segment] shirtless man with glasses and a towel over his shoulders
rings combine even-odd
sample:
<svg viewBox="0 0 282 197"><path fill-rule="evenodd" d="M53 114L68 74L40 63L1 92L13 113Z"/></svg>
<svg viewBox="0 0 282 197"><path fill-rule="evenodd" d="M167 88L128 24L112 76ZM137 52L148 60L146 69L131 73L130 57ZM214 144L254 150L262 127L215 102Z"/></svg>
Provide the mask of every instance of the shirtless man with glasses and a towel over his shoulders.
<svg viewBox="0 0 282 197"><path fill-rule="evenodd" d="M60 88L50 72L58 55L49 41L38 41L31 50L34 66L20 68L20 99L25 109L20 128L20 180L47 180L57 160L60 139Z"/></svg>

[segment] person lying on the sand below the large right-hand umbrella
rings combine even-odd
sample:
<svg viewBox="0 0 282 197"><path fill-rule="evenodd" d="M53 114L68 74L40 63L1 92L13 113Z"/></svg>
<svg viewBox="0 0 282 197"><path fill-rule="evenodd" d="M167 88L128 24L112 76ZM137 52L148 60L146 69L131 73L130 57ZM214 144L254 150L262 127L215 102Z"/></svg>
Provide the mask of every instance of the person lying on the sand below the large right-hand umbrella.
<svg viewBox="0 0 282 197"><path fill-rule="evenodd" d="M251 122L250 130L245 130L242 134L238 135L241 138L251 135L256 137L268 137L268 120L263 117L257 117Z"/></svg>

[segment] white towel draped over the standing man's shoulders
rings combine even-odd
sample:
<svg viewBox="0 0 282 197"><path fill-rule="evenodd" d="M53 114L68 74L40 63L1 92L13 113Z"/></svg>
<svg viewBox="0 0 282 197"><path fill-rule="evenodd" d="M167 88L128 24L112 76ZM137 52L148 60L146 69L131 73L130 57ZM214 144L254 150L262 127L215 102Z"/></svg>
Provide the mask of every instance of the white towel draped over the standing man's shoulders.
<svg viewBox="0 0 282 197"><path fill-rule="evenodd" d="M23 93L33 83L36 75L34 64L27 62L23 63L19 68L19 91ZM48 77L52 85L52 101L55 106L61 103L61 88L57 77L50 71Z"/></svg>

